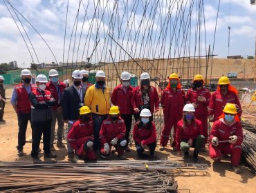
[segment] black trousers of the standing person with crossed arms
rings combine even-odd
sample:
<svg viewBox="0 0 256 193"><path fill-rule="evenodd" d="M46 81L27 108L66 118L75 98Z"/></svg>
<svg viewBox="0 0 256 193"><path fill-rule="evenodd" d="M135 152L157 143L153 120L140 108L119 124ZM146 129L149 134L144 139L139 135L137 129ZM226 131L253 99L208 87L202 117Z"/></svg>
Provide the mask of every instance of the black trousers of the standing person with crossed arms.
<svg viewBox="0 0 256 193"><path fill-rule="evenodd" d="M33 136L32 136L32 151L31 156L38 155L38 148L40 145L40 140L43 136L44 142L44 154L51 153L50 149L50 140L51 140L51 123L52 120L48 121L33 121L32 128L33 128Z"/></svg>

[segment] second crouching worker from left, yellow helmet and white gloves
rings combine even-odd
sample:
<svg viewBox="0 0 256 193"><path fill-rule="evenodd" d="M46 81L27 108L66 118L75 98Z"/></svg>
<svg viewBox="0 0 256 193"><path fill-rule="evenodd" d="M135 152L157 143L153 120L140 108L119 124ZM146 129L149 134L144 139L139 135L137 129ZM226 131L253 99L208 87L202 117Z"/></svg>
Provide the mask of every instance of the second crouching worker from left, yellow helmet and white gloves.
<svg viewBox="0 0 256 193"><path fill-rule="evenodd" d="M118 152L119 159L126 159L124 150L127 145L125 139L125 121L120 117L118 106L109 109L109 117L103 121L100 128L100 156L106 158L110 154L113 145Z"/></svg>

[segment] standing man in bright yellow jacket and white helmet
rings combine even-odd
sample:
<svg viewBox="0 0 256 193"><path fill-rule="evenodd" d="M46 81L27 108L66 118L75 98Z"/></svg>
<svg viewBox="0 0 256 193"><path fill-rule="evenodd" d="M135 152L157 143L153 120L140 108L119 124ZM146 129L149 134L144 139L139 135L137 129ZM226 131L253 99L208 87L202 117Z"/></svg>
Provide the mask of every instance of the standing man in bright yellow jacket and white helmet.
<svg viewBox="0 0 256 193"><path fill-rule="evenodd" d="M84 102L86 106L91 108L94 128L93 148L98 150L100 148L100 127L109 114L110 90L106 85L106 75L102 70L99 70L95 77L96 83L87 89Z"/></svg>

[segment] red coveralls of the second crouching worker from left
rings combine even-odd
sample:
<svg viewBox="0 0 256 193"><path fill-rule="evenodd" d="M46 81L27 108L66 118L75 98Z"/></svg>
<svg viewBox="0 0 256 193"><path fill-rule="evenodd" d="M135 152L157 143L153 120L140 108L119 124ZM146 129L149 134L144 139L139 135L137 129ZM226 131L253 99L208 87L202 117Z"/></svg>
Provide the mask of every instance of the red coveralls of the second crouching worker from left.
<svg viewBox="0 0 256 193"><path fill-rule="evenodd" d="M118 120L112 121L111 117L105 119L102 122L101 128L100 128L100 152L104 156L108 156L110 154L104 153L104 143L109 143L109 148L111 149L112 144L110 143L112 139L116 137L118 141L125 139L125 121L118 117ZM128 142L127 142L128 143ZM122 148L118 143L116 145L113 145L117 152L118 156L122 156L124 154L124 148Z"/></svg>

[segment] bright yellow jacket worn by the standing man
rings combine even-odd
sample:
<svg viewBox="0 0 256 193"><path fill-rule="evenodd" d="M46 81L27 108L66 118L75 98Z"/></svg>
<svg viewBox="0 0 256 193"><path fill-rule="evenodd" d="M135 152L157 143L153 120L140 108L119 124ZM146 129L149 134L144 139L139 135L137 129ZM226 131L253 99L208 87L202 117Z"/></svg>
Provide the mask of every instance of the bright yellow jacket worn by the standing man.
<svg viewBox="0 0 256 193"><path fill-rule="evenodd" d="M91 112L95 114L109 114L110 108L110 90L104 88L95 88L95 85L91 85L86 90L84 97L84 103L86 106L91 108Z"/></svg>

